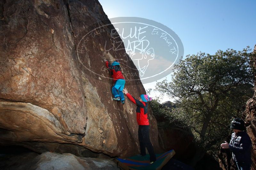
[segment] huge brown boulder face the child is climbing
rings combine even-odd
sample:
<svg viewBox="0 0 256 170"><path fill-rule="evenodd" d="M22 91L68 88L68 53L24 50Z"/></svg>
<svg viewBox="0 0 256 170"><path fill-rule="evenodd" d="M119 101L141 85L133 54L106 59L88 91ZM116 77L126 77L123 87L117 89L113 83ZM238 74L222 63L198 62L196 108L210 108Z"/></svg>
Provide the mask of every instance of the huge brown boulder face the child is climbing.
<svg viewBox="0 0 256 170"><path fill-rule="evenodd" d="M136 106L112 101L105 60L129 66L122 71L132 95L145 89L132 81L138 71L113 29L96 0L0 2L1 145L77 155L139 152ZM148 114L157 151L156 119L150 108Z"/></svg>

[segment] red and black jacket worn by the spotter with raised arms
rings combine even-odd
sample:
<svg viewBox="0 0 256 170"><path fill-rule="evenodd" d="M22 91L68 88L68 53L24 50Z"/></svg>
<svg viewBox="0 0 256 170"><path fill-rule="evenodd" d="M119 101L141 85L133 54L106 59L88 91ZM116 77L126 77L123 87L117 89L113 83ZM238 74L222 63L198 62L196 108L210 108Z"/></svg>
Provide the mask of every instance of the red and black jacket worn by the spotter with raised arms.
<svg viewBox="0 0 256 170"><path fill-rule="evenodd" d="M137 122L139 125L149 125L148 122L148 103L147 102L140 102L139 100L135 99L127 93L126 96L128 99L132 101L132 103L137 105L136 115L137 115Z"/></svg>

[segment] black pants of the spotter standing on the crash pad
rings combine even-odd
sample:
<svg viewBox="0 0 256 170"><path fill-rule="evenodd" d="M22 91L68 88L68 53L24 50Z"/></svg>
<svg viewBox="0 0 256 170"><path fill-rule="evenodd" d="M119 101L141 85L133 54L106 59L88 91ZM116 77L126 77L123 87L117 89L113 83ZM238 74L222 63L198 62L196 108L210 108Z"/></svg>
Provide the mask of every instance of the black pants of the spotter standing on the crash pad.
<svg viewBox="0 0 256 170"><path fill-rule="evenodd" d="M156 161L156 154L149 138L149 125L139 125L138 136L140 141L140 154L146 155L146 148L150 156L150 162Z"/></svg>

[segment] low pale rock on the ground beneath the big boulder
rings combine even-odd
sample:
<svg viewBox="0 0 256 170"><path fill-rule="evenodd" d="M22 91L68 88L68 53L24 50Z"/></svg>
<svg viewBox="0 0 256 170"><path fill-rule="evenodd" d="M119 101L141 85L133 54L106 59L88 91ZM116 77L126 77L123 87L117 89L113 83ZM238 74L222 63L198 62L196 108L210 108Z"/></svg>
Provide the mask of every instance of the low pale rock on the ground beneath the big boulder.
<svg viewBox="0 0 256 170"><path fill-rule="evenodd" d="M34 157L33 157L34 156ZM117 170L116 163L112 159L80 158L70 153L44 152L41 155L24 153L9 158L9 161L0 167L17 170ZM23 160L22 161L20 161Z"/></svg>

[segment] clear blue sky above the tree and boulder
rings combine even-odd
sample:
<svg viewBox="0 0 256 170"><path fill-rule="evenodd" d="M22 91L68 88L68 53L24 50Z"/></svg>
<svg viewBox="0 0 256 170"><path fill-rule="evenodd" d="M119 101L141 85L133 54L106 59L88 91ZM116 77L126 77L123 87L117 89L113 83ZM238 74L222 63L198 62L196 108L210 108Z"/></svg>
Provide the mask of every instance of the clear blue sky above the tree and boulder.
<svg viewBox="0 0 256 170"><path fill-rule="evenodd" d="M171 28L183 43L184 56L256 44L256 0L99 1L108 18L141 17Z"/></svg>

